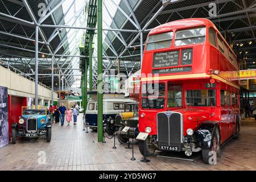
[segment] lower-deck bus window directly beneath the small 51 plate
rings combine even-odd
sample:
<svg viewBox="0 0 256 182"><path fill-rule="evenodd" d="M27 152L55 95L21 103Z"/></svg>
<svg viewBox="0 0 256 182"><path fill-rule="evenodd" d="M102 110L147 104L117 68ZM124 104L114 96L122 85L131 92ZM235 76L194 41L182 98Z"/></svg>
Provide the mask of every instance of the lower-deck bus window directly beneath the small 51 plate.
<svg viewBox="0 0 256 182"><path fill-rule="evenodd" d="M216 106L215 90L187 90L188 106Z"/></svg>

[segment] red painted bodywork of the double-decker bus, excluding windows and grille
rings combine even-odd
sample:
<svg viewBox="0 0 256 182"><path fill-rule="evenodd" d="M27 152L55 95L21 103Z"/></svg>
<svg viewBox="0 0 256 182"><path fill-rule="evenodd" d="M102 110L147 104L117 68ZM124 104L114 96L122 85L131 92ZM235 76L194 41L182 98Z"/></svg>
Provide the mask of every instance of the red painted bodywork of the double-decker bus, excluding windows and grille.
<svg viewBox="0 0 256 182"><path fill-rule="evenodd" d="M188 44L184 46L175 46L175 35L177 31L188 30L191 28L205 27L205 42ZM209 42L209 28L212 28L216 34L216 46ZM183 114L183 136L187 136L187 129L197 130L201 123L214 121L218 123L220 130L220 143L224 143L230 138L236 130L237 118L240 118L239 104L239 78L238 63L236 55L229 47L228 43L222 37L216 26L210 20L203 18L183 19L166 23L150 31L148 36L163 34L164 32L173 32L172 43L168 48L152 49L147 51L147 42L144 48L142 69L141 69L141 87L145 83L159 82L166 84L164 107L161 109L142 108L142 93L140 93L139 105L139 131L146 132L146 127L151 127L150 136L158 134L156 117L157 113L163 111L175 111ZM218 37L223 41L226 48L225 55L218 48ZM148 40L148 38L147 38ZM192 64L181 65L181 53L183 49L192 49ZM170 67L153 68L153 57L155 53L179 51L179 64ZM235 57L232 61L230 57ZM178 73L159 73L152 75L156 69L167 68L185 68L192 67L191 71ZM214 72L216 71L216 72ZM168 82L180 84L182 86L182 106L167 107ZM214 82L215 88L205 88L205 84ZM214 106L188 106L186 104L187 90L214 89L216 90L216 105ZM142 91L142 88L140 89ZM221 106L221 90L229 92L226 101L237 100L235 104ZM232 97L232 94L236 98ZM229 98L228 98L229 97ZM143 116L143 117L142 117Z"/></svg>

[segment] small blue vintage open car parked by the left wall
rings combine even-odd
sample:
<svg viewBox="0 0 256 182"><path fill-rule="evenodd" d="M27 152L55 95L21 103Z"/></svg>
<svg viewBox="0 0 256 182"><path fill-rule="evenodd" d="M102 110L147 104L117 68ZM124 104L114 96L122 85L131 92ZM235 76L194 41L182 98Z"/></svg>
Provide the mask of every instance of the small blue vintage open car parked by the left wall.
<svg viewBox="0 0 256 182"><path fill-rule="evenodd" d="M11 125L11 138L13 144L16 143L16 137L22 137L26 140L37 140L45 135L47 142L51 141L52 119L49 111L45 109L29 109L22 107L22 116L18 123Z"/></svg>

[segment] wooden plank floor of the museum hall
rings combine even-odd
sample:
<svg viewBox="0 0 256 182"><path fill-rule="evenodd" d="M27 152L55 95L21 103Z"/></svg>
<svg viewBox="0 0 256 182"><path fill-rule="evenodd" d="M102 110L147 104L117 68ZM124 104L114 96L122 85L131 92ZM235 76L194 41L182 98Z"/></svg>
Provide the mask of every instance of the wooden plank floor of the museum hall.
<svg viewBox="0 0 256 182"><path fill-rule="evenodd" d="M61 127L53 123L52 140L44 138L35 143L18 141L0 148L0 170L256 170L256 121L242 121L241 138L231 140L222 148L217 165L203 163L199 155L193 162L158 158L156 152L150 163L139 162L142 155L138 145L134 152L137 160L131 161L131 150L113 139L97 142L97 133L82 130L82 115L77 126ZM46 163L39 164L40 152L45 152Z"/></svg>

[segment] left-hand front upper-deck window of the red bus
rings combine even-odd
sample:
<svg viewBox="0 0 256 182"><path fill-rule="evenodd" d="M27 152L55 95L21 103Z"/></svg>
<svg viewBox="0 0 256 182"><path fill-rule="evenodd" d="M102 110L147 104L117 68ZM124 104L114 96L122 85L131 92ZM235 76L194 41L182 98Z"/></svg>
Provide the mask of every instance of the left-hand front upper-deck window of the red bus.
<svg viewBox="0 0 256 182"><path fill-rule="evenodd" d="M167 32L163 34L156 34L148 36L147 51L154 49L168 48L172 44L173 32Z"/></svg>

